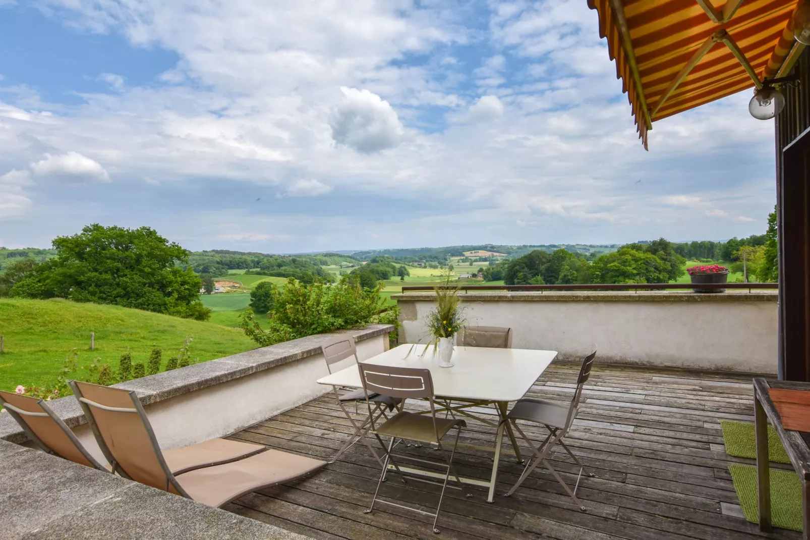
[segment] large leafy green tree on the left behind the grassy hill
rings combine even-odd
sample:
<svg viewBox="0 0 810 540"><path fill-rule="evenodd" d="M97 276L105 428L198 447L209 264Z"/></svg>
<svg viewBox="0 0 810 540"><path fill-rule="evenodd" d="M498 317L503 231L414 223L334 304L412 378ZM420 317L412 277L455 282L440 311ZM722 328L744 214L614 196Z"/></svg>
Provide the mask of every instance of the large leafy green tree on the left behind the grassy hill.
<svg viewBox="0 0 810 540"><path fill-rule="evenodd" d="M53 240L57 256L11 288L11 296L69 298L134 307L206 320L200 278L187 264L190 252L148 227L87 225Z"/></svg>

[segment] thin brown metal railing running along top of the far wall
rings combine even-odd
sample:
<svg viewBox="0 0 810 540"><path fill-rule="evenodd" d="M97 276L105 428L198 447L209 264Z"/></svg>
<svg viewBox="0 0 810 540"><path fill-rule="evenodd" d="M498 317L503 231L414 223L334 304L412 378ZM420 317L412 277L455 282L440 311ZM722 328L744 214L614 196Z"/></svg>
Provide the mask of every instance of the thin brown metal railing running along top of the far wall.
<svg viewBox="0 0 810 540"><path fill-rule="evenodd" d="M778 289L778 283L616 283L616 284L599 284L599 283L580 283L576 285L458 285L453 289L462 290L465 293L486 290L502 290L502 291L576 291L576 290L623 290L623 291L646 291L646 290L680 290L680 289L696 289L696 290L711 290L711 289L729 289L729 290L748 290L752 292L754 289ZM433 290L432 285L404 285L403 293L430 291Z"/></svg>

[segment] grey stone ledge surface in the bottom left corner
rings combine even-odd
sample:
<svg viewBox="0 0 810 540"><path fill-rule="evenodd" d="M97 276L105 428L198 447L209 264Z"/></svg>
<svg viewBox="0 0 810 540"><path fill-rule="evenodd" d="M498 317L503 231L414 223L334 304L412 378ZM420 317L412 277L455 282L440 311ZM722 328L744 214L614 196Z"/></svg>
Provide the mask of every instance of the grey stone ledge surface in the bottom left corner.
<svg viewBox="0 0 810 540"><path fill-rule="evenodd" d="M0 459L0 540L308 538L2 440Z"/></svg>

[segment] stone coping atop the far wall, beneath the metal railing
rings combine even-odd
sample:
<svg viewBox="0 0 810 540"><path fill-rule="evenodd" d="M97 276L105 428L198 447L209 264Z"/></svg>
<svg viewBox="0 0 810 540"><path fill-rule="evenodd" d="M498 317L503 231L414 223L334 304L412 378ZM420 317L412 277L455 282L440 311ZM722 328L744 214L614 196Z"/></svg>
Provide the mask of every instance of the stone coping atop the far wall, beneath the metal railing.
<svg viewBox="0 0 810 540"><path fill-rule="evenodd" d="M433 292L400 293L397 302L434 302ZM725 293L681 291L475 291L458 293L462 302L776 302L778 291L747 290Z"/></svg>

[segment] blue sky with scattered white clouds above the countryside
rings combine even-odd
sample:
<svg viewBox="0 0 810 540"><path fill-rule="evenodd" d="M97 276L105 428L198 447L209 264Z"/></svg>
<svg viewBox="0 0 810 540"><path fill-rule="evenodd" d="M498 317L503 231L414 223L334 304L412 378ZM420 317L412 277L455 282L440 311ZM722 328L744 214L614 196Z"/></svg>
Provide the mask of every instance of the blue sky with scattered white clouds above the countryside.
<svg viewBox="0 0 810 540"><path fill-rule="evenodd" d="M765 230L772 121L742 92L645 152L585 0L267 6L0 0L0 245L92 222L268 252Z"/></svg>

